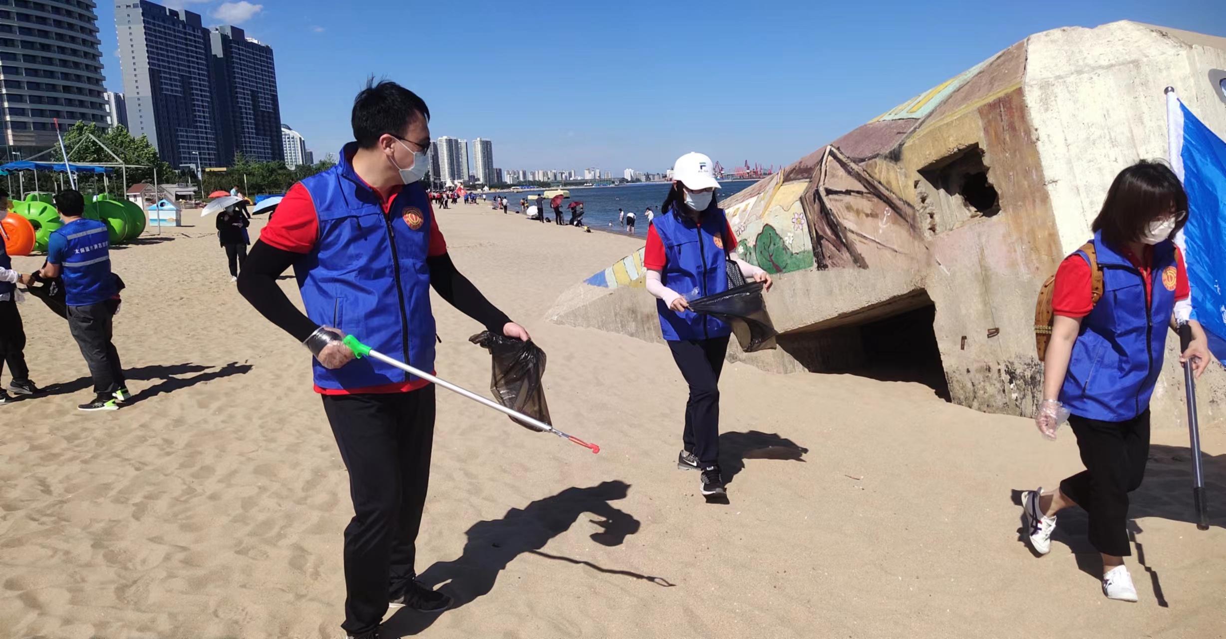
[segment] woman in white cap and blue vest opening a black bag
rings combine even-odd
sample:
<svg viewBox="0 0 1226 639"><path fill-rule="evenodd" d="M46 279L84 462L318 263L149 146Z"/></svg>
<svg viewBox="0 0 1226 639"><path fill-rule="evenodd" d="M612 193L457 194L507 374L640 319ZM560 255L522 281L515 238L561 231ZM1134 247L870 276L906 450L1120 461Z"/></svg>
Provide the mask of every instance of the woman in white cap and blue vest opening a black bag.
<svg viewBox="0 0 1226 639"><path fill-rule="evenodd" d="M715 202L720 188L714 162L702 153L685 153L673 164L673 186L647 227L647 291L656 296L660 330L689 384L683 449L677 467L701 471L705 497L727 494L720 473L720 372L732 327L711 315L689 310L689 299L728 289L727 262L747 278L764 282L766 271L736 254L737 237Z"/></svg>

